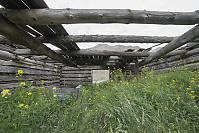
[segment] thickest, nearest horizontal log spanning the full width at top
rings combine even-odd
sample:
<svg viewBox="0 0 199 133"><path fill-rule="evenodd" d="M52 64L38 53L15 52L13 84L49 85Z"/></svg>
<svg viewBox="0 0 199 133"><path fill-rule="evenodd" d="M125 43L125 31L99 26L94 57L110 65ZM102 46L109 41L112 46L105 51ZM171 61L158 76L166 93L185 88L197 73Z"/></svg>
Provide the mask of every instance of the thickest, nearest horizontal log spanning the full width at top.
<svg viewBox="0 0 199 133"><path fill-rule="evenodd" d="M1 9L16 24L57 25L73 23L142 23L194 25L199 12L161 12L130 9Z"/></svg>

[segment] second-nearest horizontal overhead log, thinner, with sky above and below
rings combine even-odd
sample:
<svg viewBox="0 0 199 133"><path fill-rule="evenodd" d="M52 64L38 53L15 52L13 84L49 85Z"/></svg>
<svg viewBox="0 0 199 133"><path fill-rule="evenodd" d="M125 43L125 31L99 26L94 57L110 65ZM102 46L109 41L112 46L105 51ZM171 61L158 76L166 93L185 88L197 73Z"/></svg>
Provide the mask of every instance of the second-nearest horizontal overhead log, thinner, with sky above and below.
<svg viewBox="0 0 199 133"><path fill-rule="evenodd" d="M69 35L57 37L37 37L43 43L51 43L55 40L65 42L110 42L110 43L169 43L177 37L167 36L135 36L135 35ZM199 39L193 42L199 42ZM0 43L10 44L11 42L0 36Z"/></svg>

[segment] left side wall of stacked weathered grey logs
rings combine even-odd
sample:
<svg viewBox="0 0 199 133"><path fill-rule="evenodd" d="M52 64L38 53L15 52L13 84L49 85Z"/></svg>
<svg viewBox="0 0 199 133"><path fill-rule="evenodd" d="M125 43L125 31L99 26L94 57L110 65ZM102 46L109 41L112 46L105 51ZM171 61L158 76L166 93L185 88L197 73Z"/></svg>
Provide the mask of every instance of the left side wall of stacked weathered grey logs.
<svg viewBox="0 0 199 133"><path fill-rule="evenodd" d="M1 52L12 55L11 52L13 50L15 50L14 46L1 44ZM16 57L21 56L16 55ZM60 69L58 66L49 63L39 64L38 61L34 62L34 60L29 60L28 58L20 59L11 60L0 57L0 88L17 87L21 82L27 82L32 84L32 86L60 86ZM27 59L29 62L26 62ZM20 78L16 77L18 70L23 70Z"/></svg>

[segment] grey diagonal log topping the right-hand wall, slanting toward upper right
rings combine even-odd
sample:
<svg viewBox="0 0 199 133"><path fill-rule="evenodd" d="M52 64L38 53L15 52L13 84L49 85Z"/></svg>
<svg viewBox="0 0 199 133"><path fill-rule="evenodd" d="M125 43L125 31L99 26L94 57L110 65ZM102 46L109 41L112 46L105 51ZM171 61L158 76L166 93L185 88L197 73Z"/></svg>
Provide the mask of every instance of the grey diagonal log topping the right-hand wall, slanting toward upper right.
<svg viewBox="0 0 199 133"><path fill-rule="evenodd" d="M196 25L183 35L179 36L177 39L171 41L168 43L165 47L161 48L158 50L156 53L152 53L149 57L147 57L145 60L139 63L140 66L143 66L145 64L150 63L152 60L157 59L172 50L184 45L185 43L188 43L194 39L199 37L199 25Z"/></svg>

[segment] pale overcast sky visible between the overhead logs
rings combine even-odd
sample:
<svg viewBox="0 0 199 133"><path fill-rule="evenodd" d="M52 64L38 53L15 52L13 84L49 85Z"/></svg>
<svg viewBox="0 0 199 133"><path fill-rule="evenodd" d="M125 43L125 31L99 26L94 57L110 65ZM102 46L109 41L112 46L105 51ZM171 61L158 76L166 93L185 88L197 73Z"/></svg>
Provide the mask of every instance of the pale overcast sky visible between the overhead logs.
<svg viewBox="0 0 199 133"><path fill-rule="evenodd" d="M149 11L193 12L199 10L199 0L45 0L53 9L131 9ZM194 25L153 24L67 24L70 35L142 35L179 36ZM81 49L102 43L77 43ZM118 45L118 43L106 43ZM121 43L120 43L121 44ZM123 44L148 48L154 44Z"/></svg>

